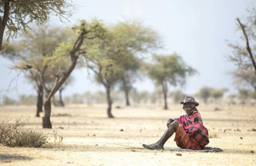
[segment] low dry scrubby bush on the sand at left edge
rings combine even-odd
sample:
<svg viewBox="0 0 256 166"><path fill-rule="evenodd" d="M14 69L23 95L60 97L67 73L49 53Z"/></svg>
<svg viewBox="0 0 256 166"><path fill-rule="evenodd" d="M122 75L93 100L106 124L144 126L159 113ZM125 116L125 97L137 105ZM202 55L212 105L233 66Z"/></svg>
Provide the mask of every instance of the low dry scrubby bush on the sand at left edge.
<svg viewBox="0 0 256 166"><path fill-rule="evenodd" d="M0 124L0 143L10 147L39 147L45 144L47 136L32 130L18 130L23 125L19 121L15 124L2 122Z"/></svg>

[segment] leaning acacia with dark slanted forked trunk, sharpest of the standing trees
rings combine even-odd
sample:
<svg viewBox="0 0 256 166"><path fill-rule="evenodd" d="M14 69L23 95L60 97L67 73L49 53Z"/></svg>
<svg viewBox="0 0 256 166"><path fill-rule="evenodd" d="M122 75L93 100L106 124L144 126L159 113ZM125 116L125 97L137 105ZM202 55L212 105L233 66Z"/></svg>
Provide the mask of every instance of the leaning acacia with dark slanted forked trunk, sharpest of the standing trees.
<svg viewBox="0 0 256 166"><path fill-rule="evenodd" d="M79 56L86 56L87 51L90 49L87 44L84 44L84 41L99 38L105 33L105 27L97 20L93 20L90 23L82 20L81 24L73 27L73 30L75 30L74 35L77 37L60 43L52 55L46 55L43 58L43 65L41 67L38 64L31 64L26 61L16 66L22 70L36 71L40 76L40 82L45 91L43 128L52 128L52 123L50 122L52 97L70 76ZM98 45L98 43L93 44L92 47L96 47L94 45ZM65 63L68 67L65 71L62 71L61 66ZM55 77L52 87L47 86L45 83L44 73L48 71L53 73L52 77Z"/></svg>

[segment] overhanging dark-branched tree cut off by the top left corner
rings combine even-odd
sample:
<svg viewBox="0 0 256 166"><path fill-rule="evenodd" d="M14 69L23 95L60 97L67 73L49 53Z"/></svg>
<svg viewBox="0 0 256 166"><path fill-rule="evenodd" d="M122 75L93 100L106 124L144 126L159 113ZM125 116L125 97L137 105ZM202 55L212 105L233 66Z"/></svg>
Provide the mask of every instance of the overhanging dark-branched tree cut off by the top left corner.
<svg viewBox="0 0 256 166"><path fill-rule="evenodd" d="M30 23L43 25L49 20L50 14L69 18L72 14L72 1L65 0L3 0L0 2L0 53L2 50L4 31L7 42L14 38L19 31L30 30ZM3 50L2 50L3 52Z"/></svg>

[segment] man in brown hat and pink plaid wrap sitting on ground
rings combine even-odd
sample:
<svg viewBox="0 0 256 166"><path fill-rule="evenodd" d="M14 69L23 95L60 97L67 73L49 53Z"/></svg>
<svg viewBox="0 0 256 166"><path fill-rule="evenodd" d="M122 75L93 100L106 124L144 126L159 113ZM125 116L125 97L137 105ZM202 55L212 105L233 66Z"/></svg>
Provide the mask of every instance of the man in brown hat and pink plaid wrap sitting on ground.
<svg viewBox="0 0 256 166"><path fill-rule="evenodd" d="M203 125L203 121L196 106L198 102L193 97L186 96L183 102L183 109L185 115L179 118L168 119L168 129L164 132L163 136L155 144L145 145L145 148L150 150L163 149L163 145L175 134L177 146L190 150L203 150L209 143L208 130Z"/></svg>

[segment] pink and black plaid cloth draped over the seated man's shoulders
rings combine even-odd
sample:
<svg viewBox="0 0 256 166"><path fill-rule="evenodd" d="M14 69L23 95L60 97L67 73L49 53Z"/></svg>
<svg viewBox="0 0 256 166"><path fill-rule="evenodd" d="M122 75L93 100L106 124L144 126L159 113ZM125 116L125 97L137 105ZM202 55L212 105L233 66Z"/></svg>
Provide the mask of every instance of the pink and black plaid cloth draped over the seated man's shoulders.
<svg viewBox="0 0 256 166"><path fill-rule="evenodd" d="M185 114L175 118L174 121L182 124L189 138L196 139L202 149L209 143L208 130L203 126L201 115L196 108L189 113L189 116Z"/></svg>

